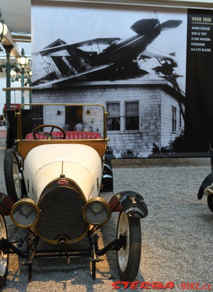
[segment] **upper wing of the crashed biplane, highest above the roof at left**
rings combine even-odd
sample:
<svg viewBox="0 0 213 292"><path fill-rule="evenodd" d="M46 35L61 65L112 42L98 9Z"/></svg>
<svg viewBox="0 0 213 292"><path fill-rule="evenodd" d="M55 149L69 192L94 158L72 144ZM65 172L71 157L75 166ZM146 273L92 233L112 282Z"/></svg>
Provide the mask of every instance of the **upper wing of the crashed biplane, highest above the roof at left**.
<svg viewBox="0 0 213 292"><path fill-rule="evenodd" d="M75 43L75 44L64 44L64 45L60 45L60 46L56 46L56 47L51 47L51 48L45 48L39 52L35 52L33 53L33 55L38 55L38 54L41 54L41 55L47 55L49 53L53 53L53 52L58 52L58 51L62 51L62 50L70 50L70 49L73 49L73 48L80 48L80 47L83 47L83 46L91 46L93 44L108 44L110 45L113 41L115 40L119 40L120 38L119 37L107 37L107 38L94 38L94 39L89 39L89 40L86 40L86 41L82 41L82 42L78 42L78 43Z"/></svg>

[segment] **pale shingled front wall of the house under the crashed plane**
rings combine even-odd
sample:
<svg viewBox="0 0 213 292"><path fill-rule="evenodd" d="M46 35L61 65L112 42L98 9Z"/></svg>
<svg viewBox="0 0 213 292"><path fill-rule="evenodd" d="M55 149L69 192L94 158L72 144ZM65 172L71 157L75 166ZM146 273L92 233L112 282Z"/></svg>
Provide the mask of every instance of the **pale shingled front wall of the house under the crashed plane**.
<svg viewBox="0 0 213 292"><path fill-rule="evenodd" d="M161 111L164 110L166 99L172 97L154 85L113 85L113 86L75 86L69 90L34 90L33 103L101 103L120 102L120 131L107 131L109 149L116 158L147 157L152 154L153 143L160 145L162 134L167 131L160 124ZM173 99L173 98L172 98ZM174 99L175 100L175 99ZM124 102L139 102L139 130L124 130ZM63 115L62 115L63 116ZM60 119L62 118L60 116ZM65 119L65 117L64 117ZM47 123L47 120L46 120ZM171 120L164 127L169 128ZM62 126L60 120L60 126ZM93 127L93 131L96 128ZM165 141L168 141L168 137Z"/></svg>

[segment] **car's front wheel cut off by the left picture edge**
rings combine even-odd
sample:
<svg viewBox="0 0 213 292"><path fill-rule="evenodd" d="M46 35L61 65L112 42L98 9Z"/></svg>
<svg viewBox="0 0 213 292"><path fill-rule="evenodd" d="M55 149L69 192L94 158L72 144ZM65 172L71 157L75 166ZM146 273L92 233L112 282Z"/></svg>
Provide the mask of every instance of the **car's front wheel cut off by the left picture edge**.
<svg viewBox="0 0 213 292"><path fill-rule="evenodd" d="M0 210L0 239L4 237L7 239L7 226L4 219L4 215ZM8 263L9 263L9 255L3 255L0 250L0 287L4 287L7 280L8 273Z"/></svg>

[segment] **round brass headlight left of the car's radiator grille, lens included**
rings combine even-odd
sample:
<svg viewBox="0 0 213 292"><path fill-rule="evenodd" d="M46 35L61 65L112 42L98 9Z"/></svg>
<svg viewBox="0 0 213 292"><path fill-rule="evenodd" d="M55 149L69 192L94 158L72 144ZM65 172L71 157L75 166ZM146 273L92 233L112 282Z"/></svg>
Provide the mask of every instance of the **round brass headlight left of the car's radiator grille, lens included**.
<svg viewBox="0 0 213 292"><path fill-rule="evenodd" d="M39 209L33 200L21 199L13 205L10 217L18 227L28 228L37 222Z"/></svg>

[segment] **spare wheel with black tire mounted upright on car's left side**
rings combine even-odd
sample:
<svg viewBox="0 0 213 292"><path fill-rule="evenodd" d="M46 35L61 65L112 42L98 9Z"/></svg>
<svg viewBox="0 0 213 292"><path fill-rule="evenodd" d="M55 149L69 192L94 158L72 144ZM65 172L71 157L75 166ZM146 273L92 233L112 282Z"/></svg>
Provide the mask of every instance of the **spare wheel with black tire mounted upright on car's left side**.
<svg viewBox="0 0 213 292"><path fill-rule="evenodd" d="M22 176L17 155L13 149L7 149L4 153L4 178L7 194L15 202L23 197L22 179L14 180L15 173L18 172Z"/></svg>

